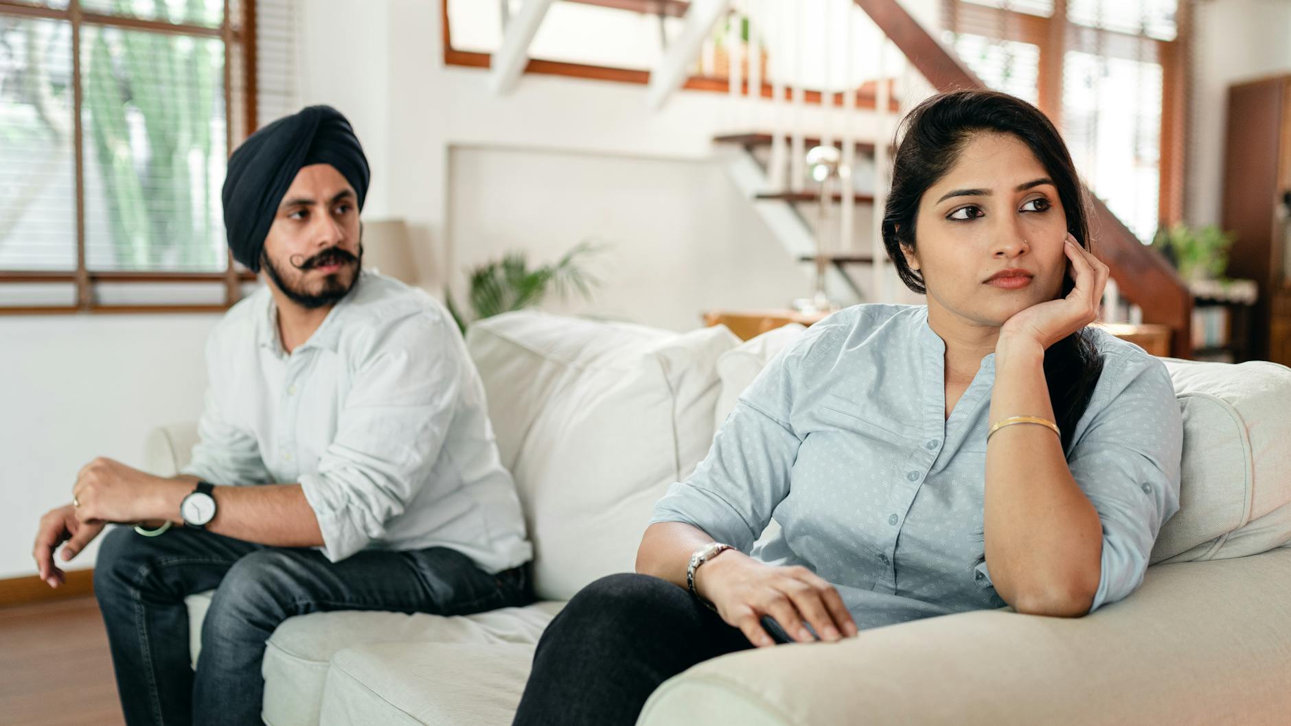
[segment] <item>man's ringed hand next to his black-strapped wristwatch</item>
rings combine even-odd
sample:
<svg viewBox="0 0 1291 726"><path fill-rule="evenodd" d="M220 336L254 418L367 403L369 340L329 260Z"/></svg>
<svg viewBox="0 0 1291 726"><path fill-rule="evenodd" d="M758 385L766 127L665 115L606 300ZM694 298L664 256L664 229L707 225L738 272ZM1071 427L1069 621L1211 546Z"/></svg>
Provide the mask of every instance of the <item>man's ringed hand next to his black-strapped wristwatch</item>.
<svg viewBox="0 0 1291 726"><path fill-rule="evenodd" d="M72 508L81 522L179 520L179 502L191 486L112 459L97 458L76 475Z"/></svg>

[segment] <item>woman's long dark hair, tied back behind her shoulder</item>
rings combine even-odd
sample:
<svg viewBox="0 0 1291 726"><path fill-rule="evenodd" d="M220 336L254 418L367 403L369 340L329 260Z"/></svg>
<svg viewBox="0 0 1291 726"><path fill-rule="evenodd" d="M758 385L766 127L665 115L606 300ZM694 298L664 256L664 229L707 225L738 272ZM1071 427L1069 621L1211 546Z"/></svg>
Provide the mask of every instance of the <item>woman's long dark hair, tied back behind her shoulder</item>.
<svg viewBox="0 0 1291 726"><path fill-rule="evenodd" d="M904 245L915 246L919 200L928 187L946 175L961 152L977 133L1010 134L1032 150L1048 172L1066 211L1066 231L1090 249L1088 205L1062 137L1038 108L994 90L942 93L915 106L901 121L900 143L892 169L892 187L883 210L883 245L905 286L924 294L923 273L910 270ZM1075 282L1064 276L1060 295ZM1044 351L1044 378L1050 402L1062 432L1062 450L1072 444L1075 422L1090 405L1090 396L1103 374L1103 357L1093 342L1078 330Z"/></svg>

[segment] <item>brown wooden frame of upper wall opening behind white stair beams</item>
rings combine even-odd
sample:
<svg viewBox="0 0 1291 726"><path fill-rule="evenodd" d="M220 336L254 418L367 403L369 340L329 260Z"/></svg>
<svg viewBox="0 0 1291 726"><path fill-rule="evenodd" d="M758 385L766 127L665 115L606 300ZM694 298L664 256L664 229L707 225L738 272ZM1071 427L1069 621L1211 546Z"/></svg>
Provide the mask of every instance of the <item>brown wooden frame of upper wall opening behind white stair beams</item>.
<svg viewBox="0 0 1291 726"><path fill-rule="evenodd" d="M448 1L439 0L440 6L440 25L443 26L443 44L444 44L444 66L460 66L467 68L489 68L492 66L493 54L480 53L476 50L457 50L453 48L452 30L449 28L448 19ZM660 12L660 9L671 17L682 17L686 14L688 3L679 0L569 0L572 3L581 3L584 5L599 5L603 8L616 8L621 10L635 10L635 12ZM593 79L602 81L613 83L626 83L646 85L649 83L649 71L642 71L638 68L617 68L612 66L594 66L587 63L571 63L565 61L542 61L538 58L529 58L524 67L525 74L547 75L547 76L567 76L574 79ZM713 93L729 93L731 81L726 77L715 76L688 76L682 88L687 90L706 90ZM789 85L784 88L784 99L793 101L794 89ZM749 95L749 81L744 79L740 81L740 94ZM775 89L769 81L763 81L760 89L762 98L775 98ZM846 92L822 94L820 90L803 89L803 102L808 104L818 106L821 103L821 97L825 95L826 103L833 103L834 106L842 107L847 98ZM875 81L868 81L861 84L856 89L856 107L873 111L878 106L878 84ZM895 98L892 93L891 81L888 84L888 110L892 113L901 112L901 104Z"/></svg>

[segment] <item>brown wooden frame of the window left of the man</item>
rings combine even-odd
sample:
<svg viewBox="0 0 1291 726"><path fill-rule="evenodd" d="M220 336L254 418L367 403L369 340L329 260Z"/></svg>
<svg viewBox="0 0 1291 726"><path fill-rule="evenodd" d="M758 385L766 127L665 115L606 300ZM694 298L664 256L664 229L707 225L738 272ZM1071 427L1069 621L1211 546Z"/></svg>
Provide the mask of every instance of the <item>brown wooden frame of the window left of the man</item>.
<svg viewBox="0 0 1291 726"><path fill-rule="evenodd" d="M256 129L256 0L240 0L240 23L234 23L230 0L225 0L223 21L218 27L172 23L86 12L80 0L68 0L67 9L28 5L13 0L0 0L0 14L31 19L62 21L72 32L72 144L75 156L76 195L76 268L72 271L6 271L0 270L0 284L74 282L76 303L72 306L0 306L0 315L58 315L58 313L141 313L141 312L223 312L241 298L243 282L256 280L250 271L239 268L231 253L226 253L222 272L152 272L152 271L94 271L85 263L85 165L84 135L81 129L81 46L84 25L116 27L134 31L161 32L198 37L218 37L225 46L225 150L234 148L235 106L232 92L232 58L241 53L241 116L243 128ZM97 282L223 282L223 304L98 304L94 300Z"/></svg>

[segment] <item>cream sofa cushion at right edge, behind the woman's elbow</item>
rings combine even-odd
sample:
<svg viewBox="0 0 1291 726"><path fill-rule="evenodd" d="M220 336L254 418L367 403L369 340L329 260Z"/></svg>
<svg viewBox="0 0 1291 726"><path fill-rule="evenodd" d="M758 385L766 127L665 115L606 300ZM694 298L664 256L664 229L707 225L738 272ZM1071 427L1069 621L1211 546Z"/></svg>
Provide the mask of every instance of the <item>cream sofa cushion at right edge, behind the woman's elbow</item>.
<svg viewBox="0 0 1291 726"><path fill-rule="evenodd" d="M1291 543L1291 369L1163 360L1184 414L1183 487L1152 562L1245 557Z"/></svg>

